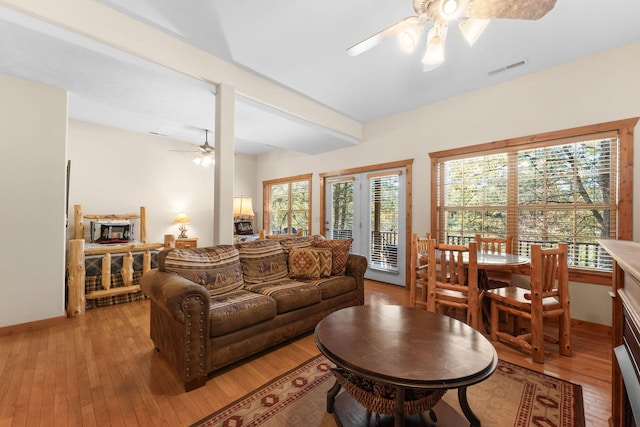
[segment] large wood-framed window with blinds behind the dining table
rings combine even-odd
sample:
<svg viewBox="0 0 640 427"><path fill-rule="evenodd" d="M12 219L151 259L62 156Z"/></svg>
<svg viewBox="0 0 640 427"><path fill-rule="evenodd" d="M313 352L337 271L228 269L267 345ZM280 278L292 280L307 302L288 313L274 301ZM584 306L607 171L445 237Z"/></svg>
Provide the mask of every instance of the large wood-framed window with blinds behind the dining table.
<svg viewBox="0 0 640 427"><path fill-rule="evenodd" d="M432 230L441 242L463 244L476 233L513 235L523 255L532 244L567 242L574 272L610 272L596 239L631 238L630 219L619 223L631 212L620 165L631 177L636 122L432 153Z"/></svg>

